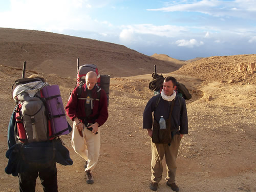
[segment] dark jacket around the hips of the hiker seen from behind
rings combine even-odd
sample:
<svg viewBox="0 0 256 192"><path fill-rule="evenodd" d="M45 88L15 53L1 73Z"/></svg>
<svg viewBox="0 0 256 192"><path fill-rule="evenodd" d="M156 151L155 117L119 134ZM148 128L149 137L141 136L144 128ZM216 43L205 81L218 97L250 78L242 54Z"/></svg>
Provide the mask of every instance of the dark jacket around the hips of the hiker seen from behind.
<svg viewBox="0 0 256 192"><path fill-rule="evenodd" d="M62 145L60 140L28 143L26 145L15 144L6 152L6 157L9 161L5 172L13 176L26 172L30 164L47 164L52 161L62 165L73 164L69 150Z"/></svg>

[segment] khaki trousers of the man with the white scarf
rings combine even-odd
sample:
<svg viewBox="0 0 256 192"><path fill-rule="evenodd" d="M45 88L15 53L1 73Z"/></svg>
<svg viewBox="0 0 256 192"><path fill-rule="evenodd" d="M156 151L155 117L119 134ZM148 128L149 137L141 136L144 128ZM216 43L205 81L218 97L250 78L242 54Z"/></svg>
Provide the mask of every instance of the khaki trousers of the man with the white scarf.
<svg viewBox="0 0 256 192"><path fill-rule="evenodd" d="M172 144L153 143L151 141L152 160L151 160L151 181L160 182L162 179L163 165L162 160L165 156L167 176L166 180L168 183L175 183L176 175L176 159L178 156L178 150L180 146L180 135L174 135Z"/></svg>

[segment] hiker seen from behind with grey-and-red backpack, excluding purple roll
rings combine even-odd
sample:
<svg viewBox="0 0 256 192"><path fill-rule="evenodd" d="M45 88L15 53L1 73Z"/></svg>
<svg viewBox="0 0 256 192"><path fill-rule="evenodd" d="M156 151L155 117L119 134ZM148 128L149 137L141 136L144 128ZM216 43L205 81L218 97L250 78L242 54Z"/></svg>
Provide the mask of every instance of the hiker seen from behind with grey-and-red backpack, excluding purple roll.
<svg viewBox="0 0 256 192"><path fill-rule="evenodd" d="M5 168L7 174L19 177L20 191L35 191L36 179L39 176L44 191L58 191L56 162L72 165L68 149L59 139L62 131L54 134L51 119L66 119L60 95L46 98L49 83L34 74L29 78L15 81L13 99L17 105L8 126L8 146L6 157L9 159ZM56 88L56 87L53 87ZM52 116L48 101L58 99L58 107L62 105L64 114ZM47 101L48 100L48 101ZM52 117L52 118L50 118ZM66 134L70 133L69 124L63 127ZM57 130L57 129L56 129Z"/></svg>

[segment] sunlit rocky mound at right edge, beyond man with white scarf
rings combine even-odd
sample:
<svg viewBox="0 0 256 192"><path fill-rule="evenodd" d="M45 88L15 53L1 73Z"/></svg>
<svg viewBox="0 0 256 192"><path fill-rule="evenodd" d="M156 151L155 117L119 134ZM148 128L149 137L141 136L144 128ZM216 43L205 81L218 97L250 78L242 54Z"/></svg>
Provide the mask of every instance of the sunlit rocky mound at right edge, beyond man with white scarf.
<svg viewBox="0 0 256 192"><path fill-rule="evenodd" d="M206 82L256 83L256 54L214 56L188 63L175 74L189 75Z"/></svg>

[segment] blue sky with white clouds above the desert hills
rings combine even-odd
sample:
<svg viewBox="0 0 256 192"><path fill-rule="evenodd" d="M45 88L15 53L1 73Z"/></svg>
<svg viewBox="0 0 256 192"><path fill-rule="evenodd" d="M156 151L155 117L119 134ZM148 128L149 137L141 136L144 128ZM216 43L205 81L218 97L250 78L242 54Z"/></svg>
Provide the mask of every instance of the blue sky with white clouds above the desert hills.
<svg viewBox="0 0 256 192"><path fill-rule="evenodd" d="M256 54L255 0L0 0L0 27L113 42L181 60Z"/></svg>

